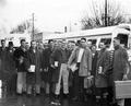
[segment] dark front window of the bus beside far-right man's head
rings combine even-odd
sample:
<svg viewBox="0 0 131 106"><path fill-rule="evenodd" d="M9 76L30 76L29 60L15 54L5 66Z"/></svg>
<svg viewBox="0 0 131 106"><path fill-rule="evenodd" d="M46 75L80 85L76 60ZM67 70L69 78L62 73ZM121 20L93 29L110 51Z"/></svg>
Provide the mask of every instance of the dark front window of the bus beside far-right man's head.
<svg viewBox="0 0 131 106"><path fill-rule="evenodd" d="M127 34L118 34L117 35L118 38L120 38L120 44L123 47L128 47L128 35Z"/></svg>

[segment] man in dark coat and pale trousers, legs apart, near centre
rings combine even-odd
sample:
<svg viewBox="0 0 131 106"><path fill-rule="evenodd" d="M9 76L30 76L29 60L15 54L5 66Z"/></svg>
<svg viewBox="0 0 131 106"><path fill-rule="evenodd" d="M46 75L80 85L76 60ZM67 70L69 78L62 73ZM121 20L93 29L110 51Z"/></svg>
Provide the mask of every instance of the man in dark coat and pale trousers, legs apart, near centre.
<svg viewBox="0 0 131 106"><path fill-rule="evenodd" d="M59 43L60 44L60 43ZM63 81L63 94L69 95L69 70L68 70L68 51L66 40L61 40L60 48L51 55L51 67L55 68L52 80L56 82L56 98L60 95L61 81Z"/></svg>

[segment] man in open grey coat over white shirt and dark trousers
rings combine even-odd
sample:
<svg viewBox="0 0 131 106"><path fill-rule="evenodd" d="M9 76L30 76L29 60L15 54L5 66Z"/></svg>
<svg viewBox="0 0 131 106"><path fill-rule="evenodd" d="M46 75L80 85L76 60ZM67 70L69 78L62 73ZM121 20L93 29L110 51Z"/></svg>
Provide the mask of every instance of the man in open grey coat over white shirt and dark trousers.
<svg viewBox="0 0 131 106"><path fill-rule="evenodd" d="M83 50L83 55L80 57L80 50ZM78 70L73 73L73 101L80 98L80 94L84 95L84 78L91 74L92 70L92 52L86 46L86 39L81 38L80 46L72 51L71 57L69 58L68 66L76 63Z"/></svg>

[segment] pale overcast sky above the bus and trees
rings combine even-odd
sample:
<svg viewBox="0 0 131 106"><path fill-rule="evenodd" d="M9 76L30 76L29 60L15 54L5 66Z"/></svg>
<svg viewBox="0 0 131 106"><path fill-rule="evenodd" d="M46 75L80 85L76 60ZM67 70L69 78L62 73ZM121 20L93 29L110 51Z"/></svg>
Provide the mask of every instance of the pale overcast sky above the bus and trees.
<svg viewBox="0 0 131 106"><path fill-rule="evenodd" d="M4 0L0 0L4 1ZM79 23L80 19L90 13L93 0L7 0L2 2L0 22L8 28L24 20L32 19L35 13L35 25L43 31L63 31L64 26ZM99 2L104 0L94 0ZM115 1L115 0L114 0ZM131 0L116 0L122 9L131 14ZM91 14L91 13L90 13ZM78 24L79 25L79 24Z"/></svg>

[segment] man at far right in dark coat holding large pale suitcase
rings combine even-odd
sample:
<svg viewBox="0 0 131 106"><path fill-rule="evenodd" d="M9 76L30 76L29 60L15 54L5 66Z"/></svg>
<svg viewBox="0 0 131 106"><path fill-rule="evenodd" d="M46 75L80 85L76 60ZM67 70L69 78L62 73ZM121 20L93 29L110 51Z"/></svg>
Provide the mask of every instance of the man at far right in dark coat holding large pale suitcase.
<svg viewBox="0 0 131 106"><path fill-rule="evenodd" d="M120 46L120 37L114 39L114 47L112 83L128 79L128 54L127 50ZM117 103L118 106L124 106L124 99L117 99Z"/></svg>

